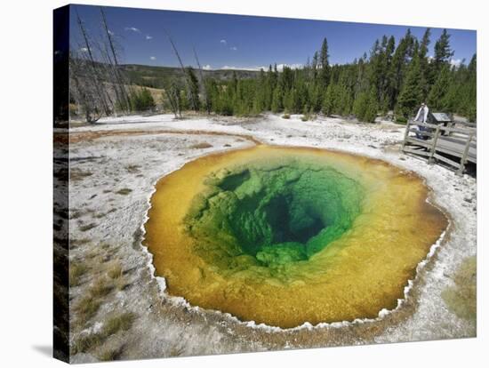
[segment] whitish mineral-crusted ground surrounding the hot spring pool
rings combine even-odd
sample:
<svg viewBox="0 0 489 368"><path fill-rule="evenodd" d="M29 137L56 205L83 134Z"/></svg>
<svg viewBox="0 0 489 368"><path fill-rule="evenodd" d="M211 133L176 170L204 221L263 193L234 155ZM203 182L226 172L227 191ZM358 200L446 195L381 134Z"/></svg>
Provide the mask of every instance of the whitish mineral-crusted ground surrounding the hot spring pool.
<svg viewBox="0 0 489 368"><path fill-rule="evenodd" d="M476 254L476 180L457 176L439 165L399 152L404 126L381 122L358 124L319 117L302 122L300 116L256 119L172 116L129 116L100 119L98 124L71 128L69 186L71 249L69 258L83 263L118 260L128 286L103 299L84 330L74 330L71 341L100 329L108 316L135 314L127 332L109 336L107 347L119 347L120 358L188 356L279 348L357 345L375 342L436 340L475 336L475 324L455 316L442 291L453 285L461 261ZM199 132L196 134L196 132ZM220 132L224 135L211 134ZM244 137L247 136L247 137ZM381 313L376 320L321 324L280 330L244 324L220 312L190 308L181 298L162 292L153 276L150 254L141 246L142 226L156 180L198 156L252 146L253 137L269 145L333 148L381 158L417 172L433 190L431 198L449 213L445 240L420 268L401 307ZM84 173L86 175L84 175ZM75 174L75 176L74 176ZM117 194L129 188L128 195ZM85 242L85 243L84 243ZM78 245L76 245L78 244ZM70 290L70 305L86 295L100 277L97 267L80 277ZM161 281L161 280L160 280ZM72 313L72 320L76 313ZM77 354L73 362L94 361Z"/></svg>

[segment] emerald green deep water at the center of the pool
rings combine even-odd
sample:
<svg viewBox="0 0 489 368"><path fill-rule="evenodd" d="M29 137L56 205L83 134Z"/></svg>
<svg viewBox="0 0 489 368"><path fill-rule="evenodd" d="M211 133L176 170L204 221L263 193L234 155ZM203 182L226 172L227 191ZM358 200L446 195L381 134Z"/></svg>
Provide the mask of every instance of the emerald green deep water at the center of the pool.
<svg viewBox="0 0 489 368"><path fill-rule="evenodd" d="M185 218L212 266L274 268L309 260L347 232L365 189L327 164L254 162L212 172Z"/></svg>

